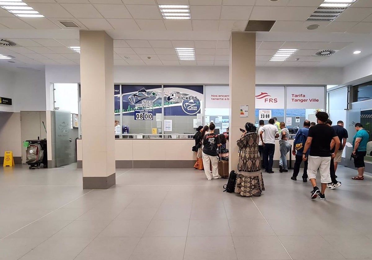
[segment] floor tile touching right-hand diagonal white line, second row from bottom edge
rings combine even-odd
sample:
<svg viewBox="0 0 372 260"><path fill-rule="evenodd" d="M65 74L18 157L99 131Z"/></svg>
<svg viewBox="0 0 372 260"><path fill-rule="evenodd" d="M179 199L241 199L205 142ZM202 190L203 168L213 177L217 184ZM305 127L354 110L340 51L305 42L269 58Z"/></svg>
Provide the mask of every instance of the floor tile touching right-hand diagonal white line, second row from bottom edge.
<svg viewBox="0 0 372 260"><path fill-rule="evenodd" d="M232 236L275 235L265 220L228 220Z"/></svg>

